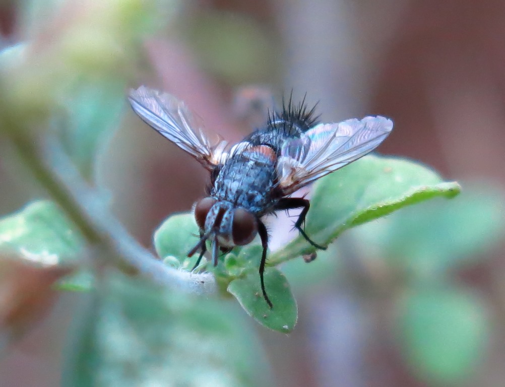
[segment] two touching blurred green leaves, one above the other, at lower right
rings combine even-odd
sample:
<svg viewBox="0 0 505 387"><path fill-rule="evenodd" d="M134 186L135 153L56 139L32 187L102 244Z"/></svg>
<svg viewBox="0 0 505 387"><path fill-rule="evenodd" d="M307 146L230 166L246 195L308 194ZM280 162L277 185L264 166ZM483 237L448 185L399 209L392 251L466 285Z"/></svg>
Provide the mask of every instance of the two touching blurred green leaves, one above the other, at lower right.
<svg viewBox="0 0 505 387"><path fill-rule="evenodd" d="M422 203L352 232L358 256L385 265L401 285L392 329L411 369L436 385L470 377L492 334L486 301L457 273L503 237L505 198L490 186L466 186L457 200Z"/></svg>

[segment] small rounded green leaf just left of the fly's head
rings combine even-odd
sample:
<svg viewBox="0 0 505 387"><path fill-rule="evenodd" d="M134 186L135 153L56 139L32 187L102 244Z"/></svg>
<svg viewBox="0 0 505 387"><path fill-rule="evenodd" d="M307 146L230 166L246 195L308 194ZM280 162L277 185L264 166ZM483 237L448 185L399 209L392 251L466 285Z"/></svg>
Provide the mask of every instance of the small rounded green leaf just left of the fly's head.
<svg viewBox="0 0 505 387"><path fill-rule="evenodd" d="M154 235L154 245L161 258L175 257L181 266L191 269L197 258L190 260L187 254L198 239L198 226L193 214L184 212L171 215L158 227Z"/></svg>

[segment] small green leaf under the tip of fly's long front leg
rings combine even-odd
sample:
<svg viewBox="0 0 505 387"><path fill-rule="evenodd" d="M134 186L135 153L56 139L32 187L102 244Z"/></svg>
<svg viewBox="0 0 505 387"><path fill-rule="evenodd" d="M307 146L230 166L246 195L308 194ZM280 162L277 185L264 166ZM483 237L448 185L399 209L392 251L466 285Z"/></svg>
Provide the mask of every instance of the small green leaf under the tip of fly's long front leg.
<svg viewBox="0 0 505 387"><path fill-rule="evenodd" d="M265 288L272 301L272 309L263 298L258 269L249 269L243 277L231 281L228 292L235 296L249 316L263 326L290 332L296 324L298 309L286 277L275 268L267 268Z"/></svg>

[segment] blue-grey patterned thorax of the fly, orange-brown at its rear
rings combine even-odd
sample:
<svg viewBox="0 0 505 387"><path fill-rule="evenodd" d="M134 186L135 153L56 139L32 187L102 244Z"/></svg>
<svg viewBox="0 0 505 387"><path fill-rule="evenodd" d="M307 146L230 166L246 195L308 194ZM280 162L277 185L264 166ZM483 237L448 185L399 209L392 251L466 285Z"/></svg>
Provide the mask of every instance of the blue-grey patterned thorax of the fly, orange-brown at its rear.
<svg viewBox="0 0 505 387"><path fill-rule="evenodd" d="M275 153L267 146L234 155L221 169L211 195L262 216L274 205Z"/></svg>

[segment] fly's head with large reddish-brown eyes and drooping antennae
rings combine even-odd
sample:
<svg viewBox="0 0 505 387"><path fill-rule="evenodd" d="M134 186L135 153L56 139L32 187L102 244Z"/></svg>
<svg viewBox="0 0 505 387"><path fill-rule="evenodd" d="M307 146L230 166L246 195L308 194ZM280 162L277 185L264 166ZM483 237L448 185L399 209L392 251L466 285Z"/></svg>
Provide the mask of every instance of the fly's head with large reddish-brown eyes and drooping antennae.
<svg viewBox="0 0 505 387"><path fill-rule="evenodd" d="M205 252L205 241L211 240L212 260L217 265L218 249L229 251L234 246L247 245L258 233L258 220L251 212L233 203L208 197L201 199L194 208L196 224L202 235L198 244L189 252L198 249Z"/></svg>

